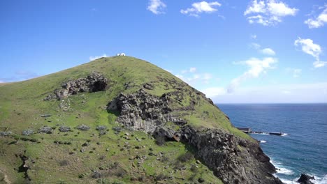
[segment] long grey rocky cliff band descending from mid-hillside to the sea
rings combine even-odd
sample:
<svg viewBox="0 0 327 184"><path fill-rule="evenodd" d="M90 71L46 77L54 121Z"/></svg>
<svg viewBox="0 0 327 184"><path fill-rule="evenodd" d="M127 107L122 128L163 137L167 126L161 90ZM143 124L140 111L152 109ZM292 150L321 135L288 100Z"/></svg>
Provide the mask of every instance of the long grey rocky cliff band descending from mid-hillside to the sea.
<svg viewBox="0 0 327 184"><path fill-rule="evenodd" d="M108 103L107 109L119 112L117 121L128 128L191 145L196 158L202 160L224 183L282 183L272 175L275 167L258 142L236 137L225 130L187 125L182 118L172 115L178 109L170 107L174 100L170 95L165 93L156 97L143 89L131 95L120 93ZM180 129L168 128L168 122L175 123Z"/></svg>

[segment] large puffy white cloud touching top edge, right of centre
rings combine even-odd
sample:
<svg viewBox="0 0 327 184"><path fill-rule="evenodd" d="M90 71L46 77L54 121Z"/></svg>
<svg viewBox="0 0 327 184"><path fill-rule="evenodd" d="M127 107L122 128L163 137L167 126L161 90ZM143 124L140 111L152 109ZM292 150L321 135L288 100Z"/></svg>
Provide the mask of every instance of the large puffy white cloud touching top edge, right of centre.
<svg viewBox="0 0 327 184"><path fill-rule="evenodd" d="M244 15L248 16L250 24L263 24L271 26L282 22L282 17L295 16L296 8L290 8L286 3L275 0L253 0L245 10Z"/></svg>

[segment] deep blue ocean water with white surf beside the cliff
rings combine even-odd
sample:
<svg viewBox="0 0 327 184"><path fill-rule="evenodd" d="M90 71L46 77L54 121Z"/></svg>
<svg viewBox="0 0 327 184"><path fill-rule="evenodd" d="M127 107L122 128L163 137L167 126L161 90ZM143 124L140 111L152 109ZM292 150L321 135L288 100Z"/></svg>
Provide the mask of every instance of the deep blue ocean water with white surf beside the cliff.
<svg viewBox="0 0 327 184"><path fill-rule="evenodd" d="M284 183L296 183L301 173L314 183L327 183L327 104L217 105L236 127L286 135L251 136L277 168Z"/></svg>

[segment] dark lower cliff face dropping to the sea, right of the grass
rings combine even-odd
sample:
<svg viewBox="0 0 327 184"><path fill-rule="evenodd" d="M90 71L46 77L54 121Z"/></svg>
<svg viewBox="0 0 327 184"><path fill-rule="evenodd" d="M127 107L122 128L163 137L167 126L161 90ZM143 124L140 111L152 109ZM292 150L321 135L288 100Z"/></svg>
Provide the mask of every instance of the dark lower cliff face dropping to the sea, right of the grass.
<svg viewBox="0 0 327 184"><path fill-rule="evenodd" d="M224 183L282 183L272 174L275 167L259 143L222 130L182 128L182 141L196 148L203 160Z"/></svg>

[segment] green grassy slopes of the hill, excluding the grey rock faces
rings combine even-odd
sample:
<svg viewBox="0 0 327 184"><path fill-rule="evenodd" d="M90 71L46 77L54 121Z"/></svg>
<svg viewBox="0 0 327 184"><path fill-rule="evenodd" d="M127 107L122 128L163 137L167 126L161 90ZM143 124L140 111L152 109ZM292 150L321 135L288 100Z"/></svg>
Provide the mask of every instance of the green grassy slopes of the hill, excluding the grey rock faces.
<svg viewBox="0 0 327 184"><path fill-rule="evenodd" d="M93 71L108 79L106 91L43 100L62 83ZM192 148L187 144L168 141L158 146L146 132L122 128L115 122L119 114L108 113L106 105L119 93L135 93L146 83L154 89L145 91L155 96L176 88L184 91L176 94L179 101L171 107L179 109L173 114L188 125L217 128L252 140L233 128L205 96L166 70L129 56L101 58L51 75L0 85L0 132L11 132L0 136L0 183L198 183L199 178L204 178L204 183L221 183L189 154ZM194 110L183 109L194 98ZM51 116L42 117L46 114ZM53 133L38 133L44 125L53 128ZM78 125L87 125L89 130L78 130ZM106 135L99 135L96 128L100 125L106 126ZM178 129L173 123L167 125ZM60 126L71 131L60 132ZM22 135L24 130L34 134Z"/></svg>

